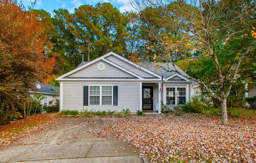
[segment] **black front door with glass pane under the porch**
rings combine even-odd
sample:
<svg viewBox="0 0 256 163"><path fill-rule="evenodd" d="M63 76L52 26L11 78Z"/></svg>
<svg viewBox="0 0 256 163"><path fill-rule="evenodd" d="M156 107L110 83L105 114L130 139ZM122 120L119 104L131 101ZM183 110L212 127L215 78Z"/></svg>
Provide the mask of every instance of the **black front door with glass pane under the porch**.
<svg viewBox="0 0 256 163"><path fill-rule="evenodd" d="M153 110L153 87L142 87L142 110Z"/></svg>

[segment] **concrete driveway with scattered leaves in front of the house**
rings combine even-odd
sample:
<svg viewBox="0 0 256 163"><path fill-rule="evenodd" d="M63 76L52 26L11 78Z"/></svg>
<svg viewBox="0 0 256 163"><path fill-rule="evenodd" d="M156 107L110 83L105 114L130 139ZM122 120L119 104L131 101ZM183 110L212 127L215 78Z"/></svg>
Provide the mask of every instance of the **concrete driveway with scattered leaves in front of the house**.
<svg viewBox="0 0 256 163"><path fill-rule="evenodd" d="M139 150L124 138L87 133L101 129L104 121L106 118L57 118L44 131L0 148L0 162L143 163Z"/></svg>

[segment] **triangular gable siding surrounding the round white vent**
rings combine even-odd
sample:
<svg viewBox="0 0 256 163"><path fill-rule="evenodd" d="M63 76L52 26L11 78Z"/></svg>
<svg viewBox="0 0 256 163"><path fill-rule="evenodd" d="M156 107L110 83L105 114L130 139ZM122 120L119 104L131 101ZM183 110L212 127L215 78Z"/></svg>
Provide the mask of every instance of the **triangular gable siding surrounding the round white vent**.
<svg viewBox="0 0 256 163"><path fill-rule="evenodd" d="M104 70L98 69L98 64L103 63L105 65ZM124 72L121 69L118 69L115 66L110 65L104 61L99 61L81 69L73 74L70 74L68 77L135 77L127 72Z"/></svg>

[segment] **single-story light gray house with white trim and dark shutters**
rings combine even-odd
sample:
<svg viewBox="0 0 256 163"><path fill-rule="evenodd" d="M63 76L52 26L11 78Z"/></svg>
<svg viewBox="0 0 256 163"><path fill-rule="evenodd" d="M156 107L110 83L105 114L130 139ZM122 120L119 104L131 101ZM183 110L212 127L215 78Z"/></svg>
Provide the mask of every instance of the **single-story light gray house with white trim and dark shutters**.
<svg viewBox="0 0 256 163"><path fill-rule="evenodd" d="M113 52L80 64L57 78L60 111L128 108L131 112L161 112L161 102L173 108L190 100L192 80L174 72L170 63L150 64L139 65Z"/></svg>

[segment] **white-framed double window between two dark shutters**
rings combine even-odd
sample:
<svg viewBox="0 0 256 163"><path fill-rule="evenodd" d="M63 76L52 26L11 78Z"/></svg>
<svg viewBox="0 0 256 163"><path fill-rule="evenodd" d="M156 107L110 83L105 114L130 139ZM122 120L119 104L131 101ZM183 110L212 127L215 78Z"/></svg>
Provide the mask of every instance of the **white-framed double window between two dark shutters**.
<svg viewBox="0 0 256 163"><path fill-rule="evenodd" d="M113 86L90 85L89 105L113 105Z"/></svg>

